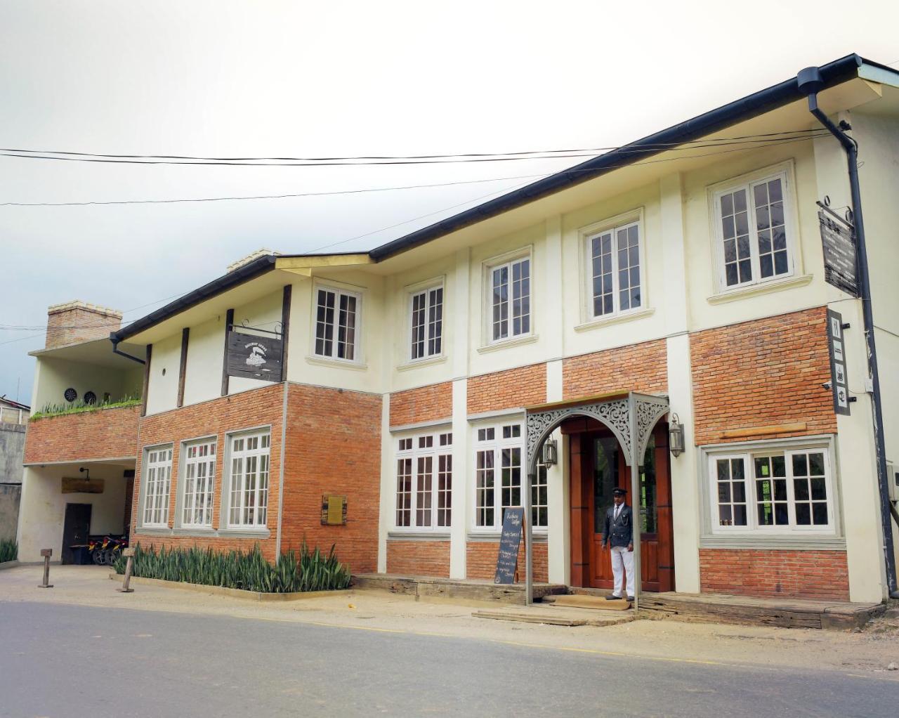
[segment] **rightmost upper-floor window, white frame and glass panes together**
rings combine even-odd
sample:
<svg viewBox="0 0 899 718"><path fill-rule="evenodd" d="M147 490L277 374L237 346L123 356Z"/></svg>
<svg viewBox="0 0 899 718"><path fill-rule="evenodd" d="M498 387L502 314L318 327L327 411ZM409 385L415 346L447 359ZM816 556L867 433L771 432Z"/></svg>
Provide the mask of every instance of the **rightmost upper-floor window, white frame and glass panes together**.
<svg viewBox="0 0 899 718"><path fill-rule="evenodd" d="M714 200L722 289L793 273L786 171L729 185Z"/></svg>

